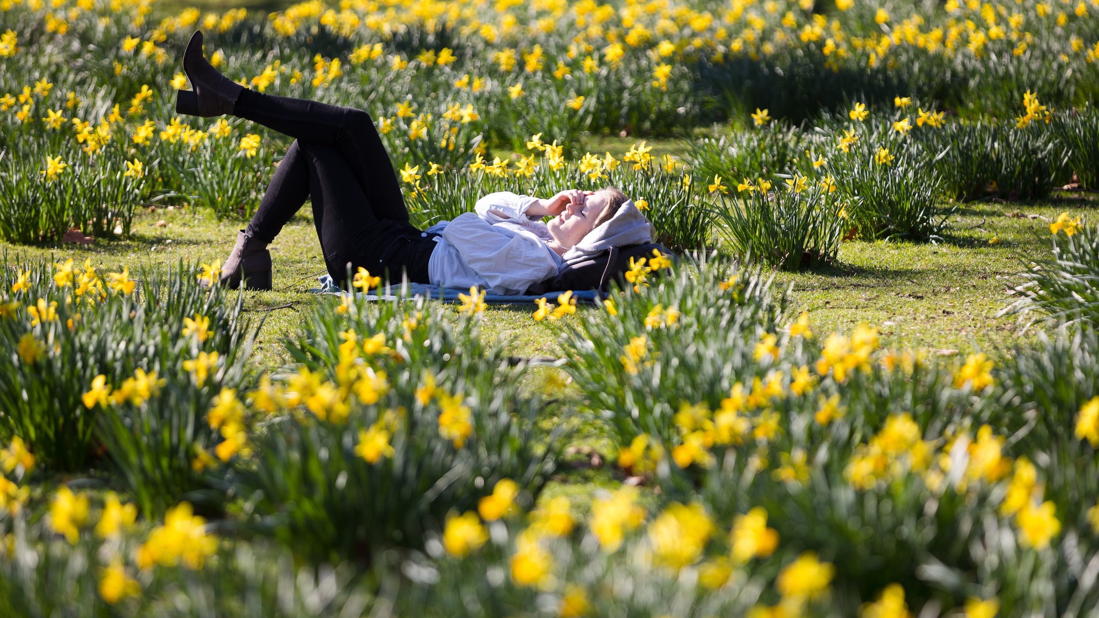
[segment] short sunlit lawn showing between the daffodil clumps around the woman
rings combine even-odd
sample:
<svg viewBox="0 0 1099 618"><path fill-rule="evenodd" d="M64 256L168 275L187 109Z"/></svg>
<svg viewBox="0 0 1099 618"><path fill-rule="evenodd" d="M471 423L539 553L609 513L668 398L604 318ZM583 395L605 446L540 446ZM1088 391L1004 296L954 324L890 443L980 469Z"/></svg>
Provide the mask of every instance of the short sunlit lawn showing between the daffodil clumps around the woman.
<svg viewBox="0 0 1099 618"><path fill-rule="evenodd" d="M623 145L628 141L621 140L617 150L629 147ZM611 146L609 139L599 144L601 150ZM664 146L671 152L674 144ZM784 289L792 286L792 311L808 309L819 334L850 331L859 322L868 322L880 329L886 345L965 354L1010 344L1020 336L1019 323L1012 317L997 318L996 313L1010 298L1008 290L1015 285L1013 275L1028 258L1050 250L1047 222L1026 216L1052 220L1068 210L1088 218L1095 207L1092 194L1063 194L1042 202L962 205L951 217L944 243L845 242L837 265L813 272L776 273L775 285ZM219 222L190 209L157 208L137 216L129 240L97 240L88 247L69 244L52 249L0 243L0 251L9 255L45 255L54 261L91 258L104 268L129 265L133 272L138 264L223 261L236 230L243 225L243 221ZM990 245L992 238L1000 242ZM308 293L317 287L317 274L324 268L308 208L282 230L270 250L275 290L245 293L246 311L264 320L252 360L257 368L275 368L289 362L280 338L293 335L300 311L320 300ZM515 355L558 355L553 327L534 322L530 318L533 310L533 305L492 306L485 314L485 333L509 338ZM612 441L600 423L575 413L581 404L580 395L566 384L563 372L540 368L529 379L532 388L557 399L543 412L543 426L548 430L564 422L574 431L574 453L565 457L546 496L577 498L574 501L582 514L598 487L621 481L613 468L591 465L589 451L599 453L604 464L614 456Z"/></svg>

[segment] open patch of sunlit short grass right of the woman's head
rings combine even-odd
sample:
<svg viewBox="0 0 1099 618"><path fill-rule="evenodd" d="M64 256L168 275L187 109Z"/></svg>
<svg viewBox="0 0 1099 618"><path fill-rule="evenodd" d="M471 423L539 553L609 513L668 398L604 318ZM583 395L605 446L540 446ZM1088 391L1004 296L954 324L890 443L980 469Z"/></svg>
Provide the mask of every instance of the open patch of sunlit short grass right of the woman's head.
<svg viewBox="0 0 1099 618"><path fill-rule="evenodd" d="M835 267L778 274L776 283L793 284L793 305L811 312L817 332L865 321L898 346L964 354L1007 344L1019 323L996 313L1017 285L1014 274L1028 258L1050 251L1048 220L1094 203L1084 198L968 203L951 217L945 243L846 242ZM1000 242L990 245L993 238Z"/></svg>

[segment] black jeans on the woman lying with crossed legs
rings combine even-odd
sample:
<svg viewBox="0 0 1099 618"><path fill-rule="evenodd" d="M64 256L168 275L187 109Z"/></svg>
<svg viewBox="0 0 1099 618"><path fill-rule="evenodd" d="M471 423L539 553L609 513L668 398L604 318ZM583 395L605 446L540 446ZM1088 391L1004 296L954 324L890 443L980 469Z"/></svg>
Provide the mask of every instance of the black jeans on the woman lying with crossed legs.
<svg viewBox="0 0 1099 618"><path fill-rule="evenodd" d="M434 234L409 222L397 173L363 110L245 89L234 115L295 137L247 232L271 242L312 199L324 265L336 282L359 266L399 282L431 283ZM346 287L346 286L345 286Z"/></svg>

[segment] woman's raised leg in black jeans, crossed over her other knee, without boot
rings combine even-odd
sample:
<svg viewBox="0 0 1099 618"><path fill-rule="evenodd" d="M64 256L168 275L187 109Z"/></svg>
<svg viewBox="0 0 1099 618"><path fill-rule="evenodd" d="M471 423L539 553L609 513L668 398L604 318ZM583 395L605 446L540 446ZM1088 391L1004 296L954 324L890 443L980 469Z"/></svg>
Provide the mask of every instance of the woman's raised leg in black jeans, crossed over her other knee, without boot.
<svg viewBox="0 0 1099 618"><path fill-rule="evenodd" d="M378 219L409 221L397 173L370 114L308 99L291 99L245 89L234 115L309 143L334 147L346 161Z"/></svg>

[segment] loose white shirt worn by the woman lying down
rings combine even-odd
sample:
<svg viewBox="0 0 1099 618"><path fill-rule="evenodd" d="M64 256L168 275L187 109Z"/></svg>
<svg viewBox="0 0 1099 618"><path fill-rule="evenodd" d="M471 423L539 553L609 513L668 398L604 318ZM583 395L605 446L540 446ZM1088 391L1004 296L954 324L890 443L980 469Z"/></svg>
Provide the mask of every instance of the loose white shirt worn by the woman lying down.
<svg viewBox="0 0 1099 618"><path fill-rule="evenodd" d="M489 194L477 200L475 212L429 228L443 234L428 263L431 283L515 295L556 275L565 262L547 244L550 230L541 217L526 214L537 201L511 191Z"/></svg>

